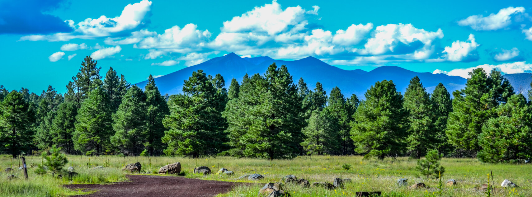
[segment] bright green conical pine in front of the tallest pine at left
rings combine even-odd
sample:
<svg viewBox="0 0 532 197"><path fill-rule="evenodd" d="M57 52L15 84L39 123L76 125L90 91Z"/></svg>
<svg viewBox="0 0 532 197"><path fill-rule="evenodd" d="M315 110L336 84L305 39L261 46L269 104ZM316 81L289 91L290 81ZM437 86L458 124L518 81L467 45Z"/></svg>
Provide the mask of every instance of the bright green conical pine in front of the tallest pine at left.
<svg viewBox="0 0 532 197"><path fill-rule="evenodd" d="M114 134L111 114L107 94L101 87L94 89L78 110L76 130L72 134L74 149L86 155L102 154Z"/></svg>

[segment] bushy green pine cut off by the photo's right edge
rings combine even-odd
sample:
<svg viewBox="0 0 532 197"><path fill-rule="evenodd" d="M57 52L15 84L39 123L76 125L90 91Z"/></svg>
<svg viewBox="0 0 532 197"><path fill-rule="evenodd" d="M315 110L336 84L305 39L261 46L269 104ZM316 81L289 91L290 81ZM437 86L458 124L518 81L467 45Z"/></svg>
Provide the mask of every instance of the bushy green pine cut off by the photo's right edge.
<svg viewBox="0 0 532 197"><path fill-rule="evenodd" d="M495 110L498 117L482 128L477 154L483 162L522 162L532 157L532 107L525 96L513 95Z"/></svg>

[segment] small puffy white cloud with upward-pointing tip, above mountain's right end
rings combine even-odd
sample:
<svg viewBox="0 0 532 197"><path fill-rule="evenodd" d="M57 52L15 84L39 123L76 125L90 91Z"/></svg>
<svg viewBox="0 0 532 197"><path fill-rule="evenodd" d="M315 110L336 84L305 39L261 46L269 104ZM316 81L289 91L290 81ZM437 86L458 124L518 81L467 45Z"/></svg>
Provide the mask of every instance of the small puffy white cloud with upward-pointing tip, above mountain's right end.
<svg viewBox="0 0 532 197"><path fill-rule="evenodd" d="M471 55L470 53L475 51L477 47L480 46L477 42L475 42L475 35L470 34L468 41L469 43L456 40L451 44L451 46L446 46L443 50L443 57L445 60L459 62L465 60L465 58L468 58Z"/></svg>

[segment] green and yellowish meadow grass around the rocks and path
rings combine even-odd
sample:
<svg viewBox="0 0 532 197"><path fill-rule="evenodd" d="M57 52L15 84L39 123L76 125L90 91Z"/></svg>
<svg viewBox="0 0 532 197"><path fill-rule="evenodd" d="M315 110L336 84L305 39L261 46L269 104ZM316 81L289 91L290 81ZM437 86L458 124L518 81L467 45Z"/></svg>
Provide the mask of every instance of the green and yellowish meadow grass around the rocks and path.
<svg viewBox="0 0 532 197"><path fill-rule="evenodd" d="M179 161L181 171L184 171L187 178L201 178L206 180L225 180L231 182L252 182L257 184L237 186L234 190L218 195L219 197L229 196L257 196L259 188L267 182L279 182L285 175L296 175L298 178L308 179L312 182L326 181L338 178L351 178L353 183L346 184L345 188L337 190L324 190L320 188L301 188L297 185L286 185L286 192L292 196L354 196L359 191L383 191L384 196L436 196L438 190L438 179L426 179L415 171L416 160L409 158L363 160L359 156L305 156L292 160L265 160L249 158L203 158L190 159L180 157L85 157L79 155L68 155L70 163L80 175L73 180L68 178L57 179L49 176L40 177L32 174L33 168L29 168L31 183L25 180L0 180L0 196L65 196L70 194L80 194L65 190L61 184L85 184L85 183L109 183L125 180L124 173L120 170L128 163L140 162L142 174L155 175L160 167L169 163ZM34 162L34 166L40 163L40 158L31 160L27 158L28 166ZM349 170L342 166L351 165ZM11 161L9 158L0 158L0 170L13 165L13 169L18 168L18 160ZM95 166L105 166L100 169L93 169ZM211 168L211 175L192 174L195 167L207 166ZM495 192L492 196L532 196L532 165L530 164L487 164L481 163L477 159L451 159L444 158L442 166L446 168L446 173L442 179L445 184L447 179L455 179L458 183L454 187L443 186L443 196L486 196L485 191L476 187L487 183L487 174L493 171L495 179ZM227 168L235 172L234 176L216 174L218 169ZM19 177L23 177L19 170ZM264 176L264 179L254 182L250 180L237 180L236 177L257 173ZM7 174L2 174L4 177ZM171 176L171 175L163 175ZM420 190L410 190L407 187L395 185L399 178L408 178L409 185L423 182L430 188ZM519 185L513 190L503 189L500 184L504 179L509 179ZM21 184L24 183L24 184ZM16 185L16 186L15 186ZM4 189L9 187L15 192L11 195ZM46 187L45 187L46 186ZM50 186L50 187L47 187ZM20 187L20 188L19 188ZM12 189L11 189L12 188ZM24 189L26 188L26 189ZM46 191L46 195L43 194ZM27 195L24 192L28 192ZM41 193L38 193L41 192ZM35 193L35 194L34 194ZM7 194L7 195L5 195Z"/></svg>

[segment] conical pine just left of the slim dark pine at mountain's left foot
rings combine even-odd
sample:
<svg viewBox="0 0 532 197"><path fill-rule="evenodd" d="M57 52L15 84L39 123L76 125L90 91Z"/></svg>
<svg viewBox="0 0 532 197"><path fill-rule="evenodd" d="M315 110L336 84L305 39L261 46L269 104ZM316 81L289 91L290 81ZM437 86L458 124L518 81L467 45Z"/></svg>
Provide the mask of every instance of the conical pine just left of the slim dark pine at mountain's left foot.
<svg viewBox="0 0 532 197"><path fill-rule="evenodd" d="M147 139L146 94L138 86L129 88L118 110L113 114L111 143L128 155L139 155Z"/></svg>

